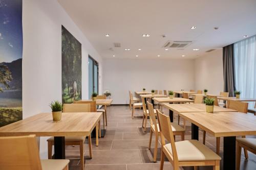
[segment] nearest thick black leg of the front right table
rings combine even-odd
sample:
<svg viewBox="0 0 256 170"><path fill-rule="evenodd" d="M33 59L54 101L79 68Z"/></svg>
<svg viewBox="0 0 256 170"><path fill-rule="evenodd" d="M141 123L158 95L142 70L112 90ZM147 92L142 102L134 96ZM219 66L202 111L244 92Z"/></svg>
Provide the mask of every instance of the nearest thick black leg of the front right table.
<svg viewBox="0 0 256 170"><path fill-rule="evenodd" d="M236 169L236 136L224 137L223 169Z"/></svg>

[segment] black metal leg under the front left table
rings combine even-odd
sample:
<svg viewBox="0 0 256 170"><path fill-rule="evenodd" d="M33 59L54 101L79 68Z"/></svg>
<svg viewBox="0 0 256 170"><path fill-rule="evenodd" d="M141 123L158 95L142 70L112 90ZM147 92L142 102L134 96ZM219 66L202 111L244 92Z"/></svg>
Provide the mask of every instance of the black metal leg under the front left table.
<svg viewBox="0 0 256 170"><path fill-rule="evenodd" d="M54 159L65 159L65 136L54 136Z"/></svg>

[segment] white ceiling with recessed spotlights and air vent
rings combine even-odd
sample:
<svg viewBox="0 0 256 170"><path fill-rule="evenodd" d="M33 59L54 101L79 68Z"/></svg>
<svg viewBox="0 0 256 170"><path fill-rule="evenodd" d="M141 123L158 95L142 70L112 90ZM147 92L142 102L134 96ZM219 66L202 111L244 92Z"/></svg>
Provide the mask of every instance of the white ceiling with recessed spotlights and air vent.
<svg viewBox="0 0 256 170"><path fill-rule="evenodd" d="M113 55L134 59L157 58L157 55L160 58L182 58L181 55L197 58L205 51L242 40L244 35L256 34L255 0L58 2L103 58L113 58ZM191 26L197 28L191 30ZM142 37L142 34L150 34L150 37ZM193 43L184 50L165 51L162 46L167 40ZM114 47L114 42L121 43L121 47ZM124 48L131 50L124 51ZM200 50L193 51L193 48Z"/></svg>

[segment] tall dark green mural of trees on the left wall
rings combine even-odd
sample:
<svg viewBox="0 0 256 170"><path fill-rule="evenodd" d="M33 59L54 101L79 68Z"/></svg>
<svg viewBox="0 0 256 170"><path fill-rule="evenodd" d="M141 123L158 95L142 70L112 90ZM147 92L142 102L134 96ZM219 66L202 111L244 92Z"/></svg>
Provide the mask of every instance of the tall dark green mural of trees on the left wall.
<svg viewBox="0 0 256 170"><path fill-rule="evenodd" d="M62 103L81 100L81 43L61 26Z"/></svg>

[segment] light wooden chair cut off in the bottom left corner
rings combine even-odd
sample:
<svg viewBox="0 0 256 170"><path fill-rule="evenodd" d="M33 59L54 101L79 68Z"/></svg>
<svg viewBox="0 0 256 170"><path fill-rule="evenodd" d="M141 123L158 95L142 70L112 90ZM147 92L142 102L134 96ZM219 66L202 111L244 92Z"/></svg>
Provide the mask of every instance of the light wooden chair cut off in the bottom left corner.
<svg viewBox="0 0 256 170"><path fill-rule="evenodd" d="M0 137L0 169L69 169L69 160L40 160L35 135Z"/></svg>

